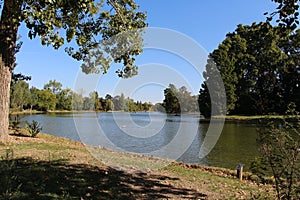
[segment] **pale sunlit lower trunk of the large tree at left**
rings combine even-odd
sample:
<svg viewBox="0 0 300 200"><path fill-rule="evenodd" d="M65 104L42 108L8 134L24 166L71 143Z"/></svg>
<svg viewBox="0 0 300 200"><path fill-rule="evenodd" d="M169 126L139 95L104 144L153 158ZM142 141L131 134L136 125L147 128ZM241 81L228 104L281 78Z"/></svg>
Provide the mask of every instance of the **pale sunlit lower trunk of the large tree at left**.
<svg viewBox="0 0 300 200"><path fill-rule="evenodd" d="M9 126L9 91L11 71L0 57L0 143L6 143Z"/></svg>

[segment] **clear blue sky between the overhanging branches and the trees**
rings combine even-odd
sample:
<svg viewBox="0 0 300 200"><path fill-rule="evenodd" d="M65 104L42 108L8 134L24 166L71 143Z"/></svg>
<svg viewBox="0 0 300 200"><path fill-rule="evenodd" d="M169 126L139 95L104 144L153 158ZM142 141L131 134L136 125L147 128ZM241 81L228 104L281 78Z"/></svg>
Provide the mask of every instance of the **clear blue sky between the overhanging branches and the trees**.
<svg viewBox="0 0 300 200"><path fill-rule="evenodd" d="M233 32L238 24L251 25L265 21L263 13L274 11L271 0L136 0L147 12L149 29L145 34L144 53L136 63L139 74L120 79L113 65L105 75L84 75L80 62L73 60L64 48L43 47L39 39L30 40L21 26L23 46L17 54L15 73L30 75L30 86L43 88L49 80L61 82L64 88L87 95L113 96L121 92L135 100L162 102L163 90L170 84L186 86L198 94L208 53Z"/></svg>

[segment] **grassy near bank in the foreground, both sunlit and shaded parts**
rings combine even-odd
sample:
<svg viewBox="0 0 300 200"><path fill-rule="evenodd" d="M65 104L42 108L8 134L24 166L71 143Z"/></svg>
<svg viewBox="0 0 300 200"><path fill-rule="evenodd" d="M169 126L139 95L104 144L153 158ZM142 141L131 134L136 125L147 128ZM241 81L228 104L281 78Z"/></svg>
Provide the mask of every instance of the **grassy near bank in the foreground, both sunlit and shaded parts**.
<svg viewBox="0 0 300 200"><path fill-rule="evenodd" d="M227 169L86 147L39 134L0 146L0 199L273 199Z"/></svg>

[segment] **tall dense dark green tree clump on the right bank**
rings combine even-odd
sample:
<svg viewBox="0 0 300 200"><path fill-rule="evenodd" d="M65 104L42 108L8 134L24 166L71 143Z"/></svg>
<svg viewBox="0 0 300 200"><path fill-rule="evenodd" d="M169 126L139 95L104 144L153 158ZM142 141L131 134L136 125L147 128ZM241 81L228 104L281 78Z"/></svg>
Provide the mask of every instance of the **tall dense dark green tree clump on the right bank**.
<svg viewBox="0 0 300 200"><path fill-rule="evenodd" d="M199 106L211 115L207 83L215 65L224 82L227 114L284 114L290 103L300 111L300 30L273 27L268 22L238 25L209 55ZM218 95L218 94L216 94Z"/></svg>

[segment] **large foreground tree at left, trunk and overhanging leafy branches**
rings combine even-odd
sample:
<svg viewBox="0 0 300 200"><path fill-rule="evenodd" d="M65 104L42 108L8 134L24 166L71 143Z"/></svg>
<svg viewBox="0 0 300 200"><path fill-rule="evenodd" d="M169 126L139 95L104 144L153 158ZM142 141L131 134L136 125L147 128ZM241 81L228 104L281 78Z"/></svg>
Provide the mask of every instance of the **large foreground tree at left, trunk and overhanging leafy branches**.
<svg viewBox="0 0 300 200"><path fill-rule="evenodd" d="M119 76L136 74L134 56L142 47L140 32L135 30L146 26L146 15L137 11L133 0L1 0L0 7L0 142L8 136L10 82L21 23L28 28L28 37L38 36L42 45L58 49L66 42L76 44L65 50L83 61L86 73L105 73L114 61L124 66ZM128 30L130 34L114 38Z"/></svg>

